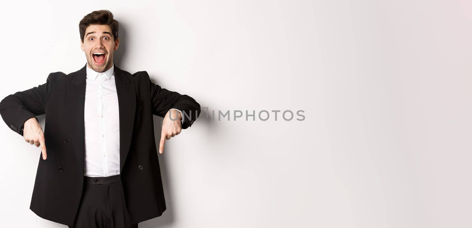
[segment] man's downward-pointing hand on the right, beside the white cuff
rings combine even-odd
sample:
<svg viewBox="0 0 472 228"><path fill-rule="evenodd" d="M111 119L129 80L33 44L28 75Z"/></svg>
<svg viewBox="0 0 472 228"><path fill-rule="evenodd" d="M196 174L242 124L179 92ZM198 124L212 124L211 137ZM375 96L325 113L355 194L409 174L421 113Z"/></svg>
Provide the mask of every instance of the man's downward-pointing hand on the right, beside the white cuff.
<svg viewBox="0 0 472 228"><path fill-rule="evenodd" d="M180 134L180 131L182 131L181 122L182 122L182 114L180 114L179 111L175 109L171 109L169 110L169 112L167 112L166 116L164 117L164 121L162 121L162 130L160 132L160 143L159 143L160 154L164 153L164 143L166 139L169 140L170 137L174 137Z"/></svg>

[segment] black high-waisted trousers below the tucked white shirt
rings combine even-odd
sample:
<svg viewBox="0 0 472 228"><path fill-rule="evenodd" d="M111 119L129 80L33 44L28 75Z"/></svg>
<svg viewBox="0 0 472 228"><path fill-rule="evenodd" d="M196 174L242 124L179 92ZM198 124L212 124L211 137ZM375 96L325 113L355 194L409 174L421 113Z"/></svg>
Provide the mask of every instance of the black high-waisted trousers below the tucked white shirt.
<svg viewBox="0 0 472 228"><path fill-rule="evenodd" d="M69 228L137 228L130 224L120 175L84 176L84 190L74 226Z"/></svg>

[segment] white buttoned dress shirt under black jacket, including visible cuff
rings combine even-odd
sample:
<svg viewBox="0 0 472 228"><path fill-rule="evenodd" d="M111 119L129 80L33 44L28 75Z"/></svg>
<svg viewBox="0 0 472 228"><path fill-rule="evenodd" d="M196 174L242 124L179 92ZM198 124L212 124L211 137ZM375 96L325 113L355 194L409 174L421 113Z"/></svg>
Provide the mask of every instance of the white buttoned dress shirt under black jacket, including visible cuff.
<svg viewBox="0 0 472 228"><path fill-rule="evenodd" d="M119 112L114 65L102 73L94 71L88 64L86 69L84 176L118 175Z"/></svg>

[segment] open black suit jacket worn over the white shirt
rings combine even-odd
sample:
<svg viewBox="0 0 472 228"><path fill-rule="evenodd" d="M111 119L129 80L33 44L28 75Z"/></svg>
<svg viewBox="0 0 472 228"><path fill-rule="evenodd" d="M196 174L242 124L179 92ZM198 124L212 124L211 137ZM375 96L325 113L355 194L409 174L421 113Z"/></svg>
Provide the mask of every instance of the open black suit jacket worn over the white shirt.
<svg viewBox="0 0 472 228"><path fill-rule="evenodd" d="M50 73L46 83L0 102L1 117L20 135L27 119L45 114L47 159L39 153L30 209L44 219L69 226L74 223L84 186L86 67L69 74ZM131 223L138 223L166 210L152 115L164 117L169 109L177 108L185 115L182 129L186 129L200 115L200 105L194 98L152 83L145 71L131 74L114 67L120 174Z"/></svg>

